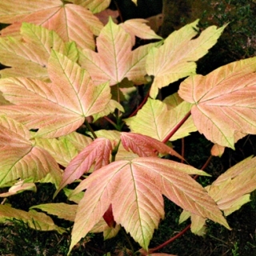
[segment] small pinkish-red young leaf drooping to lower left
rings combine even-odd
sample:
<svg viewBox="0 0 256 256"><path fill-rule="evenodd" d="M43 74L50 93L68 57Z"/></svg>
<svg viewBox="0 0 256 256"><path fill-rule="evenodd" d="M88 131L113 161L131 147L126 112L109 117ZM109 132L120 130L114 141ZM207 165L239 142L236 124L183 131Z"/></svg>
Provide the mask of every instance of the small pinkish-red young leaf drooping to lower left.
<svg viewBox="0 0 256 256"><path fill-rule="evenodd" d="M87 173L94 164L94 170L106 166L110 162L110 153L112 150L111 142L107 138L96 138L89 146L86 146L66 167L62 176L62 182L55 192L58 194L60 190L67 184L74 182L80 178L82 174Z"/></svg>

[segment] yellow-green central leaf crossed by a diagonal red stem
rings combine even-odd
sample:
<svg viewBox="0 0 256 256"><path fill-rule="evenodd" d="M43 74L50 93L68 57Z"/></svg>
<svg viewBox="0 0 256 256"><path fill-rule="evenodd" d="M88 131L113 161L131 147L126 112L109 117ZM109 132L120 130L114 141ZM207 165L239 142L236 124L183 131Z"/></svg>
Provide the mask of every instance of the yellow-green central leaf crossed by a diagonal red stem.
<svg viewBox="0 0 256 256"><path fill-rule="evenodd" d="M166 103L149 98L142 109L138 111L138 114L132 118L127 118L125 122L130 126L132 132L163 141L174 129L174 126L190 111L190 108L191 104L182 102L171 109ZM183 138L196 130L192 118L189 118L170 140Z"/></svg>

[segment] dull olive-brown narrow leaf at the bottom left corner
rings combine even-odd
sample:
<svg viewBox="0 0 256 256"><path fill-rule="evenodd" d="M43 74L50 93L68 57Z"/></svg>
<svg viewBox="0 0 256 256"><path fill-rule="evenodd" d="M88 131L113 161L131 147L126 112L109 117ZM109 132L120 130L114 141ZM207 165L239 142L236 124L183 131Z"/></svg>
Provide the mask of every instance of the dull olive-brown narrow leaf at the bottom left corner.
<svg viewBox="0 0 256 256"><path fill-rule="evenodd" d="M46 214L38 213L35 210L26 212L25 210L14 209L8 205L0 205L0 222L13 219L27 223L34 230L56 230L59 234L66 232L63 228L56 226L50 216Z"/></svg>

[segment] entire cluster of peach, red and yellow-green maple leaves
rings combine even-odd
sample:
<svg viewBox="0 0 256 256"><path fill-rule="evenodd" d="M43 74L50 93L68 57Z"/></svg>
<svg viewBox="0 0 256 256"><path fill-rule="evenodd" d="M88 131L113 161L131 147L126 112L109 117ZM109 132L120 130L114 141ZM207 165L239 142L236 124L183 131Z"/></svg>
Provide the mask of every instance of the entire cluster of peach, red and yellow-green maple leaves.
<svg viewBox="0 0 256 256"><path fill-rule="evenodd" d="M162 39L143 19L105 24L109 4L0 2L0 22L10 24L0 38L0 62L8 66L0 71L0 221L63 236L72 230L67 254L89 234L109 239L123 228L141 246L138 254L154 255L149 245L165 215L164 195L182 208L179 222L190 218L194 234L205 234L208 220L230 229L225 217L256 189L256 158L203 187L195 179L210 175L170 142L198 131L221 156L256 134L256 58L196 74L195 62L226 26L200 31L197 20ZM150 42L137 47L136 38ZM157 99L181 78L178 94ZM40 183L53 184L54 199L27 211L10 205L8 198Z"/></svg>

